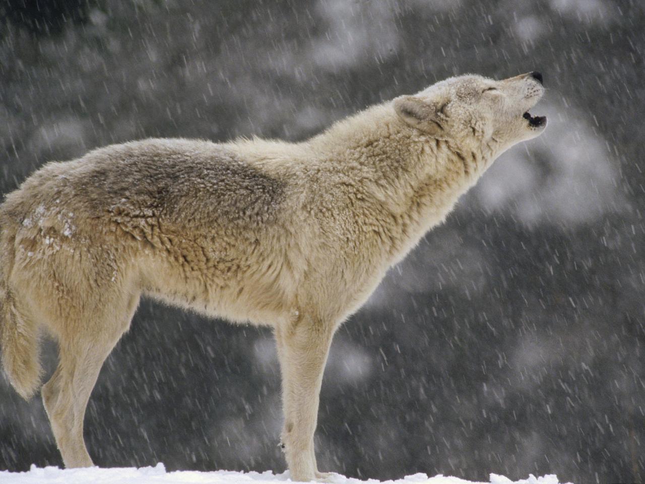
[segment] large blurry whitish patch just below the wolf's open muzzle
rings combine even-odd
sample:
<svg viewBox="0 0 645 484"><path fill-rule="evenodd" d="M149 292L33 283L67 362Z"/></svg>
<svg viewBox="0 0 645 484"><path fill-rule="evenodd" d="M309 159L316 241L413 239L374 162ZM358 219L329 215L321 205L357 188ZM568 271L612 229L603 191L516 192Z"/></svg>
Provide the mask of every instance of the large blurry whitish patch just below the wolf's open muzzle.
<svg viewBox="0 0 645 484"><path fill-rule="evenodd" d="M464 205L506 212L529 226L571 226L622 212L617 148L597 134L593 113L546 103L533 111L548 117L546 131L499 157L467 196L477 200Z"/></svg>

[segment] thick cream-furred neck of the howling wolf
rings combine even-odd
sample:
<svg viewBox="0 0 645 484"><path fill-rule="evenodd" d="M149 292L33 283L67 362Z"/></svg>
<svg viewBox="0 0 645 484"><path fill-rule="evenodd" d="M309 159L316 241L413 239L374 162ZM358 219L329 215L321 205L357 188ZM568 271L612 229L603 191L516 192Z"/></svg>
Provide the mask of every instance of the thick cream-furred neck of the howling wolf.
<svg viewBox="0 0 645 484"><path fill-rule="evenodd" d="M317 162L324 172L345 187L343 195L381 214L375 236L389 242L391 263L444 220L487 164L481 154L466 156L408 127L389 104L345 119L310 143L323 154Z"/></svg>

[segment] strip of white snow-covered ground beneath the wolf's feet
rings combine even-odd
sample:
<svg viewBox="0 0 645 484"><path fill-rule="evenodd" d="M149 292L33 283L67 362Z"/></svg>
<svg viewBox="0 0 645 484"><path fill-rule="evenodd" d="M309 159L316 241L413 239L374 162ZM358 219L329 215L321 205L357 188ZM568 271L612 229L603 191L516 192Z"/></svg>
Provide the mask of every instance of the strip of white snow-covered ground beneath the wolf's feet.
<svg viewBox="0 0 645 484"><path fill-rule="evenodd" d="M196 472L192 470L178 470L166 472L163 464L156 467L142 467L136 469L114 468L99 469L91 467L88 469L59 469L58 467L45 467L40 469L32 465L28 472L0 471L0 483L2 484L185 484L185 483L208 483L208 484L276 484L277 482L291 482L288 472L274 475L271 471L263 472L229 472L217 470L215 472ZM370 479L359 481L359 479L346 478L340 474L333 474L330 479L333 484L378 484L379 481ZM464 479L435 476L428 478L426 474L414 474L396 481L384 481L387 484L484 484L464 481ZM527 479L511 481L511 479L497 474L490 475L490 484L559 484L557 476L549 475L536 478L530 475Z"/></svg>

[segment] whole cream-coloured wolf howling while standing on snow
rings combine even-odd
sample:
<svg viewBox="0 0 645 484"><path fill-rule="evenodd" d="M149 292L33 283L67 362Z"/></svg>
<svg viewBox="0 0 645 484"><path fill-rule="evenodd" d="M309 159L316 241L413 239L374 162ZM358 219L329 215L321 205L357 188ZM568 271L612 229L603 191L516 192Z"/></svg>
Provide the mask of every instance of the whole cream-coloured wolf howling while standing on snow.
<svg viewBox="0 0 645 484"><path fill-rule="evenodd" d="M538 136L542 75L452 77L301 143L144 139L48 163L0 205L2 362L41 388L66 467L93 465L83 419L141 296L273 328L290 476L313 449L332 336L386 270L441 223L504 150Z"/></svg>

